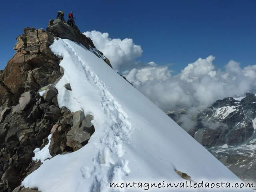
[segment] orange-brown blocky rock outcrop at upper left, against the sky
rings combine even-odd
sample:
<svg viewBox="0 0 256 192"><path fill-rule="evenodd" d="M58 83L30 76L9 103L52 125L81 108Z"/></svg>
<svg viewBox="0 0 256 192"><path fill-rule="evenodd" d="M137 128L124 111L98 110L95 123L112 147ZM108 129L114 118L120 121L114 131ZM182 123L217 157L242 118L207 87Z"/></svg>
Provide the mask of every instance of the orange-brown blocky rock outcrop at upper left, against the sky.
<svg viewBox="0 0 256 192"><path fill-rule="evenodd" d="M59 58L50 50L54 36L35 28L25 28L17 37L16 53L0 75L0 105L18 104L20 95L54 83L61 76Z"/></svg>

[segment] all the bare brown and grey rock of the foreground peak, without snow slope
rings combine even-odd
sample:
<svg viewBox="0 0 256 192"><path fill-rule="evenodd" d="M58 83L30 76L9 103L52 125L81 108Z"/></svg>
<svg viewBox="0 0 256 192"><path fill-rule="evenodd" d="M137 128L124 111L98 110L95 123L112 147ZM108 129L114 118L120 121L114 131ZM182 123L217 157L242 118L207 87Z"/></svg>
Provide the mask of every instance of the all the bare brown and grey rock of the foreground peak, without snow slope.
<svg viewBox="0 0 256 192"><path fill-rule="evenodd" d="M50 49L54 39L68 38L93 49L111 67L92 40L77 26L50 20L46 30L25 28L14 46L16 53L0 71L0 191L36 192L20 187L23 178L41 162L32 161L35 148L44 148L51 133L50 154L64 154L87 144L94 132L93 116L70 113L58 106L54 84L64 73L61 57ZM72 91L70 84L65 87ZM44 92L42 94L42 92ZM41 95L40 95L41 94ZM15 188L15 189L14 189Z"/></svg>

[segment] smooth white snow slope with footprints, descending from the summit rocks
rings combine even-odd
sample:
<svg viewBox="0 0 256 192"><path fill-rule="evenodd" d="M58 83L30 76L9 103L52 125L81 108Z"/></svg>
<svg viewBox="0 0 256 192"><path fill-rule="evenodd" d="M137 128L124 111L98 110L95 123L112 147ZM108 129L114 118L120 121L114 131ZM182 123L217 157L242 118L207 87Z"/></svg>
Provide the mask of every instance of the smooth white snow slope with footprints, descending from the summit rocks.
<svg viewBox="0 0 256 192"><path fill-rule="evenodd" d="M45 161L24 186L42 192L108 192L121 190L110 188L110 182L185 182L175 169L198 182L241 182L102 59L66 39L56 40L51 49L64 58L64 76L56 85L60 107L93 115L96 131L80 150Z"/></svg>

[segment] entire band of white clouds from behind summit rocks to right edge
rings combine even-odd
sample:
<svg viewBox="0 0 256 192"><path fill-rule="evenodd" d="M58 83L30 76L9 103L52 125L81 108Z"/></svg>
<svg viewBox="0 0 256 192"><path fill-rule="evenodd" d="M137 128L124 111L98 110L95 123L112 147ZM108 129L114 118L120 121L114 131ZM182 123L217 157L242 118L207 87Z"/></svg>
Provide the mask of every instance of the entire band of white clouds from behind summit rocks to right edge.
<svg viewBox="0 0 256 192"><path fill-rule="evenodd" d="M217 71L213 63L215 57L210 55L198 58L178 75L171 76L167 66L158 66L154 61L147 64L136 61L142 48L132 39L111 39L108 33L98 31L84 34L108 57L114 69L126 70L124 76L164 110L204 108L215 100L243 95L255 87L256 65L240 68L238 62L230 60L224 71Z"/></svg>

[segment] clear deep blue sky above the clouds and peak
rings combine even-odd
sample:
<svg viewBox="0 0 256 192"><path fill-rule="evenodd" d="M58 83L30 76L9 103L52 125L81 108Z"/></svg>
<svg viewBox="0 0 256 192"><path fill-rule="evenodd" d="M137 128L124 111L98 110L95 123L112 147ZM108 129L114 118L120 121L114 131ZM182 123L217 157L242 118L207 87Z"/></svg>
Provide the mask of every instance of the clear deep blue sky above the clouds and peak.
<svg viewBox="0 0 256 192"><path fill-rule="evenodd" d="M142 62L154 61L179 72L209 55L222 68L229 60L256 64L256 1L4 1L1 2L0 69L12 57L16 37L26 26L46 28L58 10L74 11L81 32L108 32L132 38Z"/></svg>

